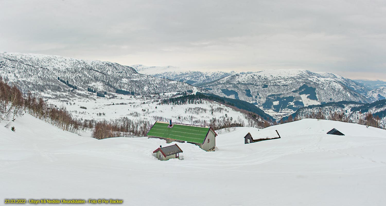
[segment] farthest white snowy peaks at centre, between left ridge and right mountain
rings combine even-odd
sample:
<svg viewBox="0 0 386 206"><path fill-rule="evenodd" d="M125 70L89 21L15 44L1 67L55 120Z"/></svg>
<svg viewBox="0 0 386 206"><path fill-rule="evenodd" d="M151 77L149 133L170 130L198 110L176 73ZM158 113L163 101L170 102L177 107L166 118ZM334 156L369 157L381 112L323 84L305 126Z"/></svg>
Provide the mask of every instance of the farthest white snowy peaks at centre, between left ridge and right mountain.
<svg viewBox="0 0 386 206"><path fill-rule="evenodd" d="M131 65L138 73L151 75L157 78L167 78L170 80L186 82L191 85L200 85L202 83L212 82L223 77L235 74L236 72L200 72L183 70L176 66L144 66Z"/></svg>

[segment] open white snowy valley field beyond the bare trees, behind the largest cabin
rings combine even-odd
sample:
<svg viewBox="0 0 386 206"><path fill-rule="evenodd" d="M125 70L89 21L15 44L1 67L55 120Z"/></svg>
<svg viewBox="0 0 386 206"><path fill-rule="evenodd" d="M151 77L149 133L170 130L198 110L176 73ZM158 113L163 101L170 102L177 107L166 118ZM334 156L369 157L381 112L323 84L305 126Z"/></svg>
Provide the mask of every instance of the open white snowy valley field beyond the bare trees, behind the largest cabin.
<svg viewBox="0 0 386 206"><path fill-rule="evenodd" d="M161 99L173 97L176 92L146 96L116 94L117 97L114 99L97 97L91 92L76 92L92 96L83 99L71 98L69 102L60 99L48 99L47 103L57 107L65 107L73 117L83 119L110 120L128 117L132 120L148 120L151 124L154 124L156 121L168 122L171 118L175 123L202 124L203 121L210 121L212 117L222 119L227 114L226 118L232 117L232 122L236 121L244 125L249 123L243 113L218 102L202 100L202 104L159 105ZM157 99L157 97L160 99ZM81 106L87 109L82 109Z"/></svg>

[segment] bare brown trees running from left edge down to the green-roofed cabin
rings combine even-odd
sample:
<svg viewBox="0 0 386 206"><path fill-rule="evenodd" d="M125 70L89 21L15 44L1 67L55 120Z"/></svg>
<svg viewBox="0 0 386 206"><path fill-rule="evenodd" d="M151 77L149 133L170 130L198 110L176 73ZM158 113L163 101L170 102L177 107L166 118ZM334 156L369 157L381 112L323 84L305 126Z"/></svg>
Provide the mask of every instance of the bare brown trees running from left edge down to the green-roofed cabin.
<svg viewBox="0 0 386 206"><path fill-rule="evenodd" d="M60 129L78 132L80 129L94 129L92 136L97 139L116 136L145 136L151 124L144 120L131 120L127 117L110 121L95 121L94 119L76 119L66 108L56 108L46 103L42 98L37 98L28 92L22 92L13 85L8 85L0 77L0 121L13 120L28 112L47 123Z"/></svg>

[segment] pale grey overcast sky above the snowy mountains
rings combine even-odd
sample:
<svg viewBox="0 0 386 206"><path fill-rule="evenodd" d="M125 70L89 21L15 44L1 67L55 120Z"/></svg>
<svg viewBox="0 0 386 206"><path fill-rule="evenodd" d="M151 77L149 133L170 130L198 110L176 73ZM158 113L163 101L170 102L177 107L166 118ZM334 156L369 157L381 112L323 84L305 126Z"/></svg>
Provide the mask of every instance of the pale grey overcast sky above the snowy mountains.
<svg viewBox="0 0 386 206"><path fill-rule="evenodd" d="M386 80L386 1L0 0L0 51Z"/></svg>

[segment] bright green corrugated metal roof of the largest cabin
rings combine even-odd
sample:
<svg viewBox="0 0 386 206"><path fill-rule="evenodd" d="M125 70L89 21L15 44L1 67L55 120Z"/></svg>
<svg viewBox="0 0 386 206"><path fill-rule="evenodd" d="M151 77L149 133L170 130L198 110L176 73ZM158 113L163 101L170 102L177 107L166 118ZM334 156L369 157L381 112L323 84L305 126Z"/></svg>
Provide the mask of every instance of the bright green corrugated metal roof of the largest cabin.
<svg viewBox="0 0 386 206"><path fill-rule="evenodd" d="M157 121L149 130L147 136L163 137L193 143L203 143L210 129L210 127L181 124L173 124L172 128L168 128L168 126L169 123Z"/></svg>

